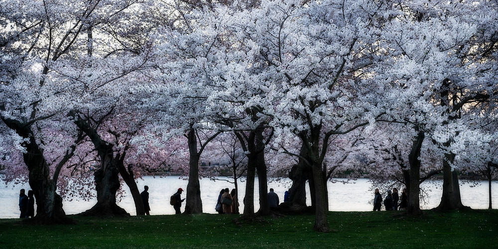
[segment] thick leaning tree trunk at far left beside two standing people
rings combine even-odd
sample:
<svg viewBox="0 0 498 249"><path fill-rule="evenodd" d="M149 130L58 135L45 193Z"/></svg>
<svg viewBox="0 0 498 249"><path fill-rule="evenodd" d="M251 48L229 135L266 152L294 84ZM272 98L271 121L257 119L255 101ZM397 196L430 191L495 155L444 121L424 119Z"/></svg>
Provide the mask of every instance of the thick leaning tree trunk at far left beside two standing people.
<svg viewBox="0 0 498 249"><path fill-rule="evenodd" d="M72 223L73 221L67 218L62 208L62 198L56 193L57 182L50 177L50 165L43 156L29 126L16 120L2 118L2 121L18 135L29 139L29 142L22 143L26 148L26 153L22 156L29 171L29 186L36 199L36 222L42 224Z"/></svg>

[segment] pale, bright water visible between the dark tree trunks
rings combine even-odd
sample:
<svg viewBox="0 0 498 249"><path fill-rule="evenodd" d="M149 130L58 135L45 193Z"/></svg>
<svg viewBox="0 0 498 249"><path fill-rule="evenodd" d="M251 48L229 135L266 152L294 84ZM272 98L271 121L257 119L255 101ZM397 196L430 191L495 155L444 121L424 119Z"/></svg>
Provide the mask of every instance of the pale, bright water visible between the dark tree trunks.
<svg viewBox="0 0 498 249"><path fill-rule="evenodd" d="M221 178L227 179L227 178ZM338 179L345 180L345 179ZM373 199L373 193L369 190L371 183L368 179L358 179L356 181L350 181L351 183L343 184L341 182L328 183L329 189L329 209L330 211L372 211L372 204L369 203ZM178 176L165 176L165 177L153 177L145 176L143 179L137 180L137 185L140 191L143 190L144 185L149 186L149 203L150 203L150 214L151 215L169 215L174 214L173 206L169 205L169 198L172 194L176 192L178 188L183 188L186 190L188 181L185 179L180 179ZM234 188L233 184L227 181L217 180L213 181L210 179L201 179L201 199L203 205L204 213L216 213L215 205L218 194L222 188ZM422 204L423 209L434 208L439 204L441 200L441 180L435 180L431 182L426 182L423 184L424 189L430 190L428 192L428 198L425 204ZM19 208L18 208L18 195L19 189L24 188L29 190L29 185L25 184L8 184L0 183L0 218L18 218ZM286 189L291 185L289 179L283 179L279 182L270 181L268 183L268 189L273 188L280 198L280 202L283 202L283 194ZM124 187L124 196L119 201L119 206L123 207L131 215L135 215L135 208L133 204L133 199L128 191L127 186ZM246 189L246 182L239 182L239 189L241 192L240 198L240 210L244 210L244 204L242 199ZM307 191L307 203L311 205L311 200L309 196L309 189ZM481 184L476 187L471 187L470 184L462 184L460 186L460 191L462 195L462 202L464 205L470 206L474 209L486 209L488 208L488 182L481 181ZM385 192L385 190L384 190ZM498 182L494 181L492 185L493 192L493 203L498 205ZM183 192L182 197L185 198L186 192ZM257 179L255 181L255 191L254 191L254 208L255 211L259 208L258 205L258 192L257 192ZM385 196L385 193L382 194ZM64 200L64 210L66 214L78 214L89 208L91 208L97 200L83 201L83 200ZM184 210L184 203L182 205L182 212ZM496 207L496 206L494 206ZM36 210L36 208L35 208Z"/></svg>

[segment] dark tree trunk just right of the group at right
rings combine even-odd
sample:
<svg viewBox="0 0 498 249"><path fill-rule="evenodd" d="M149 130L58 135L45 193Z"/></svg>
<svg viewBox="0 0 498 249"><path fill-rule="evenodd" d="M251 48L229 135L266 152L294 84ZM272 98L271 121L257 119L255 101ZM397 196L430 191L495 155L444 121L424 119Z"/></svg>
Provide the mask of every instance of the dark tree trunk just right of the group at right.
<svg viewBox="0 0 498 249"><path fill-rule="evenodd" d="M423 131L418 131L414 137L411 146L408 161L410 163L410 192L408 193L408 214L419 215L420 212L420 149L424 141L425 134Z"/></svg>

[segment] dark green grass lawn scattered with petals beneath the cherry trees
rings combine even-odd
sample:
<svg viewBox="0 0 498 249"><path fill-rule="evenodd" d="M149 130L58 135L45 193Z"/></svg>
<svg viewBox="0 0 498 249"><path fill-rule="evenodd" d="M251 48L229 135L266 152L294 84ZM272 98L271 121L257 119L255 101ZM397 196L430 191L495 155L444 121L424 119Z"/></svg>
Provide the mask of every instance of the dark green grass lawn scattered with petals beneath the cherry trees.
<svg viewBox="0 0 498 249"><path fill-rule="evenodd" d="M330 212L330 233L313 232L309 215L242 225L235 215L71 217L77 224L2 219L0 248L498 248L498 210Z"/></svg>

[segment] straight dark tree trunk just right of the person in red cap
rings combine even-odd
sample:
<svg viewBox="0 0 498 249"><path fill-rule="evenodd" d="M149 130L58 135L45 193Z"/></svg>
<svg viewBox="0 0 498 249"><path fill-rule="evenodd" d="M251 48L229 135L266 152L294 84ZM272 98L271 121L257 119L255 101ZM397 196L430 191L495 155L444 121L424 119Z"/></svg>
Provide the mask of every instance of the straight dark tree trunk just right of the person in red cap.
<svg viewBox="0 0 498 249"><path fill-rule="evenodd" d="M184 214L201 214L201 185L199 184L199 157L197 151L197 136L195 129L190 128L188 132L188 148L189 148L189 177L187 185L187 197Z"/></svg>

